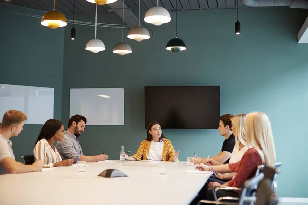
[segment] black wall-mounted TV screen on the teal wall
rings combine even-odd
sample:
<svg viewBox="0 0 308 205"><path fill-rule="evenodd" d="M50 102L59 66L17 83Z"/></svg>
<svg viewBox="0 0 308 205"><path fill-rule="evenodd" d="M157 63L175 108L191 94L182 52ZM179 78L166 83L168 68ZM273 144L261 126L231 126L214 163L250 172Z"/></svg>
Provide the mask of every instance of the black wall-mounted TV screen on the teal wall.
<svg viewBox="0 0 308 205"><path fill-rule="evenodd" d="M220 86L145 86L145 128L217 129Z"/></svg>

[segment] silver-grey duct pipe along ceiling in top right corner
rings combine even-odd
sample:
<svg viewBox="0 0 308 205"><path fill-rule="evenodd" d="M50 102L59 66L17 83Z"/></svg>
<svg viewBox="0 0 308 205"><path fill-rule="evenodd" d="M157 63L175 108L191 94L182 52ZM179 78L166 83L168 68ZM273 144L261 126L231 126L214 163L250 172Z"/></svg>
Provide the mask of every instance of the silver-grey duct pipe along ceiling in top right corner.
<svg viewBox="0 0 308 205"><path fill-rule="evenodd" d="M288 6L290 8L308 9L307 0L240 0L244 5L251 7Z"/></svg>

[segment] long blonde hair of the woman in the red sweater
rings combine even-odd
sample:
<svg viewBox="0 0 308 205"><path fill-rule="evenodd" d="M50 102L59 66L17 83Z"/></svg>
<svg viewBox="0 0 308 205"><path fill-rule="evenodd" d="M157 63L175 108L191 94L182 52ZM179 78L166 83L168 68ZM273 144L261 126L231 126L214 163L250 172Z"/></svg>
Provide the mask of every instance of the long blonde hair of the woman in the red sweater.
<svg viewBox="0 0 308 205"><path fill-rule="evenodd" d="M265 165L274 167L276 151L268 116L262 112L249 113L246 117L245 127L247 145L258 150Z"/></svg>

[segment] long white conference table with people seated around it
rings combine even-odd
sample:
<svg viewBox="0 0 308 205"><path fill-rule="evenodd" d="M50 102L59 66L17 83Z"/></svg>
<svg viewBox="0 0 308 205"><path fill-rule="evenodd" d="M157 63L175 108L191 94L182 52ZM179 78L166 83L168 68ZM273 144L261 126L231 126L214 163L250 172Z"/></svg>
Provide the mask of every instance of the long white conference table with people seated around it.
<svg viewBox="0 0 308 205"><path fill-rule="evenodd" d="M189 204L210 177L189 174L186 162L119 161L55 167L51 171L0 175L0 204ZM159 174L166 168L167 174ZM128 177L97 176L119 169Z"/></svg>

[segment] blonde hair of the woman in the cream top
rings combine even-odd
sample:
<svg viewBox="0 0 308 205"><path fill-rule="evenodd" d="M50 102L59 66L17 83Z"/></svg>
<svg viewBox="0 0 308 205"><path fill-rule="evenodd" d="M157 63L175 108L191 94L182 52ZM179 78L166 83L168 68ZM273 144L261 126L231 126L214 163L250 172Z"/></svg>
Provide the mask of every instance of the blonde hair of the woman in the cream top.
<svg viewBox="0 0 308 205"><path fill-rule="evenodd" d="M246 114L238 114L231 118L231 122L234 124L232 132L235 136L235 145L239 148L239 143L247 144L247 135L245 130Z"/></svg>

